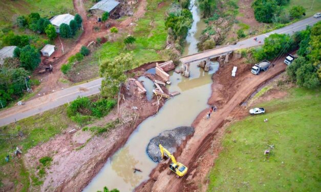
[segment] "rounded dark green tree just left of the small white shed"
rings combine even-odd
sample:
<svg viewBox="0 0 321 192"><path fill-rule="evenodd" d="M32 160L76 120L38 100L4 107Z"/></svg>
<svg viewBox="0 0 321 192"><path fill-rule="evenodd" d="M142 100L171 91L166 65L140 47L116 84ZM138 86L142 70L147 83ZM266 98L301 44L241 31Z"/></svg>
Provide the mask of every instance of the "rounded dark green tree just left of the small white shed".
<svg viewBox="0 0 321 192"><path fill-rule="evenodd" d="M32 46L27 45L20 50L21 66L26 70L34 70L40 63L40 54Z"/></svg>

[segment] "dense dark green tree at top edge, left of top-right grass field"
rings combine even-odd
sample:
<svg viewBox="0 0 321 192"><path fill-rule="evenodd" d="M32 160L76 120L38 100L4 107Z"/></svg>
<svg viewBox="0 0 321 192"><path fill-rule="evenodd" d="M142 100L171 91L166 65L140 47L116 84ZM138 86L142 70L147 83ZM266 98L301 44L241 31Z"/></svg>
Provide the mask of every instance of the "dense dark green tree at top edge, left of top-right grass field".
<svg viewBox="0 0 321 192"><path fill-rule="evenodd" d="M280 7L275 0L255 0L252 8L255 19L260 22L272 22L273 15L279 15L280 12Z"/></svg>

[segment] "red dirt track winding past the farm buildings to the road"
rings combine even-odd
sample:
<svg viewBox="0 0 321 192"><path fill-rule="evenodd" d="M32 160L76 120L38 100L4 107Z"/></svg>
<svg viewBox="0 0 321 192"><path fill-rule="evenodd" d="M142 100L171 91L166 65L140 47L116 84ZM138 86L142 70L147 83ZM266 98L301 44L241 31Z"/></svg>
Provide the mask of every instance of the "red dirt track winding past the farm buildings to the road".
<svg viewBox="0 0 321 192"><path fill-rule="evenodd" d="M52 90L61 89L62 86L66 88L66 85L62 85L59 82L59 79L62 77L62 73L60 71L61 65L67 63L68 58L72 55L75 55L81 49L81 46L87 46L91 41L95 41L97 37L105 37L106 35L110 34L110 31L101 27L102 24L97 23L96 18L90 17L87 18L87 11L84 9L83 5L84 0L74 0L74 8L77 13L79 13L82 17L82 26L83 32L81 36L78 38L74 44L70 45L71 47L65 47L65 53L61 54L61 43L59 38L56 38L55 45L58 48L55 54L53 54L47 62L47 65L51 64L54 67L52 74L45 74L40 76L40 79L43 79L43 83L41 85L42 89L38 92L40 95L48 94L52 92ZM121 22L112 21L112 26L116 26L119 29L119 32L131 32L132 27L130 27L130 23L138 20L145 14L147 2L146 0L140 0L137 11L134 13L133 16L126 18ZM96 32L94 30L94 26L101 27L101 30ZM63 44L64 42L62 42ZM70 51L69 51L70 50ZM50 62L51 61L51 62ZM34 74L36 75L36 74ZM38 97L37 95L35 97Z"/></svg>

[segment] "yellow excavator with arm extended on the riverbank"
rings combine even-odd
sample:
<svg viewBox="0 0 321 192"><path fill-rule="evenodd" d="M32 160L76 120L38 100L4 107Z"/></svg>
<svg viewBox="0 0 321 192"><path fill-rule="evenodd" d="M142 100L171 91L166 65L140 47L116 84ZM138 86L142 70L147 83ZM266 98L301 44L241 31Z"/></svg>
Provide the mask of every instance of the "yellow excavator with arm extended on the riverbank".
<svg viewBox="0 0 321 192"><path fill-rule="evenodd" d="M187 173L187 170L188 170L187 167L182 163L177 162L175 157L160 144L159 144L159 149L161 151L163 159L166 160L168 157L172 159L172 163L169 164L169 169L172 170L174 173L176 173L178 176L183 177ZM164 153L166 153L168 157L165 156Z"/></svg>

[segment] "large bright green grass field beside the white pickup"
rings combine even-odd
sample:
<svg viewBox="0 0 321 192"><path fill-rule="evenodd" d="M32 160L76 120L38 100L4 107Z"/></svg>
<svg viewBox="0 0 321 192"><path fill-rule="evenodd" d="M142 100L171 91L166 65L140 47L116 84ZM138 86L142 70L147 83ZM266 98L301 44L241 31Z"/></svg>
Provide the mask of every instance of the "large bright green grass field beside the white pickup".
<svg viewBox="0 0 321 192"><path fill-rule="evenodd" d="M209 191L317 191L320 102L320 90L293 89L286 99L262 104L267 114L231 125L211 170ZM268 144L275 148L266 159Z"/></svg>

